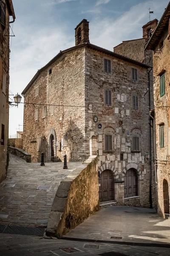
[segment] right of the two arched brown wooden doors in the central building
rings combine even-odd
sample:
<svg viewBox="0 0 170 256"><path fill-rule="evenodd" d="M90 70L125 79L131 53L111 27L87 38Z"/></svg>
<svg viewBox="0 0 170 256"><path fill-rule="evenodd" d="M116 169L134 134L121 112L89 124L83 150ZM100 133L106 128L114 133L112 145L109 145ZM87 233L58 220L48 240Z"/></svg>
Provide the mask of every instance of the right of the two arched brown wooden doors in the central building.
<svg viewBox="0 0 170 256"><path fill-rule="evenodd" d="M138 177L136 170L130 168L127 170L124 177L124 198L129 198L138 195Z"/></svg>

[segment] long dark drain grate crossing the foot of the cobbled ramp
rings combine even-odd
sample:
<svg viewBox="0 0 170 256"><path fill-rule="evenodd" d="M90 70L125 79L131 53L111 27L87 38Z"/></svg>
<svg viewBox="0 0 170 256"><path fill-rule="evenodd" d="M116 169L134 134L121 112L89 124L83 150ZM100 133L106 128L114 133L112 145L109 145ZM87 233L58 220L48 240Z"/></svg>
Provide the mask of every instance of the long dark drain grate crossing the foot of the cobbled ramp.
<svg viewBox="0 0 170 256"><path fill-rule="evenodd" d="M0 233L25 236L44 236L44 227L23 227L0 224Z"/></svg>

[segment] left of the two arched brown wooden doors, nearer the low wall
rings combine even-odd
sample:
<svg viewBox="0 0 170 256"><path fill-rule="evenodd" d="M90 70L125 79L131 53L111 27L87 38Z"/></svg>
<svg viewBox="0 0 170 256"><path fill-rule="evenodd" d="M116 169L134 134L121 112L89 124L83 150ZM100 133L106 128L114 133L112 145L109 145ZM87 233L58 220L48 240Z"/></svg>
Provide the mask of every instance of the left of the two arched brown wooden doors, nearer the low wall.
<svg viewBox="0 0 170 256"><path fill-rule="evenodd" d="M105 170L99 177L99 201L114 200L114 177L110 170Z"/></svg>

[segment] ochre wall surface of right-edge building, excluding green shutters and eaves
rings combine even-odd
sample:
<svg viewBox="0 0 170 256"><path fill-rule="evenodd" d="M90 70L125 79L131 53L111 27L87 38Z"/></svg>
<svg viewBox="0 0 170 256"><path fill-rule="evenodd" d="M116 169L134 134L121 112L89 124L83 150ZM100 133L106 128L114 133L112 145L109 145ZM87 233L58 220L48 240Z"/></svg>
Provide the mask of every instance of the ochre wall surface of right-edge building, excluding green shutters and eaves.
<svg viewBox="0 0 170 256"><path fill-rule="evenodd" d="M153 76L154 76L154 105L155 105L155 128L156 128L156 154L157 154L157 209L159 215L164 215L163 180L167 180L170 202L170 40L168 37L168 26L160 41L163 47L159 49L159 43L153 51ZM159 42L160 42L159 41ZM165 76L165 94L160 96L160 75ZM159 108L158 108L159 106ZM161 108L161 106L164 106ZM168 106L168 107L167 107ZM164 125L164 147L160 147L159 125ZM170 207L169 207L170 210Z"/></svg>

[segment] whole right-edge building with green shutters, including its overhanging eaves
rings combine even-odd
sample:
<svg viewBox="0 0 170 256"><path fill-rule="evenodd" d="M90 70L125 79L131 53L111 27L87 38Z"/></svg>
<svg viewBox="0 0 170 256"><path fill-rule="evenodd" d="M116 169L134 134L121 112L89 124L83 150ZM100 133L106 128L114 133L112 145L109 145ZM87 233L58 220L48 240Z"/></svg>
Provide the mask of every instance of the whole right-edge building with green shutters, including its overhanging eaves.
<svg viewBox="0 0 170 256"><path fill-rule="evenodd" d="M155 165L159 215L170 214L170 3L146 45L153 50Z"/></svg>

